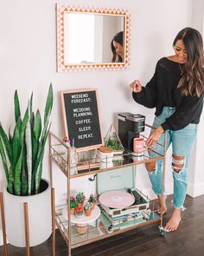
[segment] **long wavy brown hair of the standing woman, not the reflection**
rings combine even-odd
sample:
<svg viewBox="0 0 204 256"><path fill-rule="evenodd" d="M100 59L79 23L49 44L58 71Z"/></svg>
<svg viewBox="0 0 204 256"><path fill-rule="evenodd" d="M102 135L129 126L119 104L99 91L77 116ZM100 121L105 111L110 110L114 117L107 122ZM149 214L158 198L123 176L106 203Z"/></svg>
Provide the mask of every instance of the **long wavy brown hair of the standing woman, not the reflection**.
<svg viewBox="0 0 204 256"><path fill-rule="evenodd" d="M180 79L177 88L180 88L182 95L197 95L201 96L204 90L204 54L202 36L198 30L185 28L181 30L173 45L178 40L182 40L186 53L187 62L183 70L182 78Z"/></svg>

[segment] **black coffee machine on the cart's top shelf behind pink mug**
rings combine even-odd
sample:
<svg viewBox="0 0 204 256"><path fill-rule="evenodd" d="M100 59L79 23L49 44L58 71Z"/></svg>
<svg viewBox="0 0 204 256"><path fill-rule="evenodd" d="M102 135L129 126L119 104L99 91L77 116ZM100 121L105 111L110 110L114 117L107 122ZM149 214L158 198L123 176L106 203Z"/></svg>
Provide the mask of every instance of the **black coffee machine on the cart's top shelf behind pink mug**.
<svg viewBox="0 0 204 256"><path fill-rule="evenodd" d="M133 151L133 139L144 131L145 116L139 114L118 113L118 136L127 152Z"/></svg>

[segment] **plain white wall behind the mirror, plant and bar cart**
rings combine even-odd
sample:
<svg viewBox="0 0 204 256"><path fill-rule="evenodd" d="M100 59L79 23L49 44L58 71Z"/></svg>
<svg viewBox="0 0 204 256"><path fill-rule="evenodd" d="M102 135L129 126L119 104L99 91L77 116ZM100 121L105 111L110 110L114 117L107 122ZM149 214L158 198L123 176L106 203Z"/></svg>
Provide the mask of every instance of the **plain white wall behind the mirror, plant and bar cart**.
<svg viewBox="0 0 204 256"><path fill-rule="evenodd" d="M67 1L75 5L124 8L131 13L131 65L128 69L67 74L56 73L56 2L60 3L54 0L0 0L0 121L4 128L8 129L10 123L14 123L15 89L18 89L23 111L32 91L34 105L42 111L49 82L54 84L52 131L56 135L63 135L59 93L66 89L99 90L104 135L112 122L117 125L118 112L140 113L146 115L147 122L151 123L154 110L147 110L133 102L128 84L136 77L143 83L148 82L153 75L156 61L162 56L173 54L171 45L175 34L183 27L191 25L192 1ZM48 148L46 153L44 176L48 176ZM0 168L3 170L2 165ZM170 176L169 170L168 181ZM150 182L143 168L137 179L138 186L149 189ZM73 187L86 188L87 194L93 189L85 179L73 182ZM0 185L3 185L3 172L0 172ZM65 193L66 181L60 172L56 171L54 174L54 185L60 192L58 194ZM171 182L168 187L170 185ZM60 200L59 196L57 200Z"/></svg>

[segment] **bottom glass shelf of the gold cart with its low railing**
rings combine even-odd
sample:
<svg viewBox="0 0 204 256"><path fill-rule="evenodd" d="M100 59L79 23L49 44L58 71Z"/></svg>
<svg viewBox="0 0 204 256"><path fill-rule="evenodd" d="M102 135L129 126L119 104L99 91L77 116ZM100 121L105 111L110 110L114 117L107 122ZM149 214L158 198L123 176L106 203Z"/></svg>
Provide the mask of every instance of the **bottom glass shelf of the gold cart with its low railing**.
<svg viewBox="0 0 204 256"><path fill-rule="evenodd" d="M67 205L61 205L55 207L55 220L56 225L60 229L64 239L68 243L68 221L63 217L63 208ZM115 235L116 233L124 233L131 229L145 226L150 223L160 221L160 215L156 211L156 206L154 202L150 202L150 209L141 211L143 214L139 214L132 220L120 221L117 224L112 224L103 213L100 213L99 218L94 221L95 224L88 224L86 226L86 231L82 230L79 233L77 226L71 223L71 246L72 248L86 245L93 242L94 240L102 240L110 235Z"/></svg>

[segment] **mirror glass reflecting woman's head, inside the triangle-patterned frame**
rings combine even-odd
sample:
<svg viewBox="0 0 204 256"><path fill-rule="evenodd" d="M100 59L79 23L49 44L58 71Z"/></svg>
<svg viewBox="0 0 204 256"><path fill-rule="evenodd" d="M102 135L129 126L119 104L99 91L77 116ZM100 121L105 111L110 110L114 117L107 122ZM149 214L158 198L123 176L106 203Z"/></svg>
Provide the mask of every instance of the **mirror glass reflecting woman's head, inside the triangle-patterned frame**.
<svg viewBox="0 0 204 256"><path fill-rule="evenodd" d="M64 64L124 62L125 16L64 12Z"/></svg>

